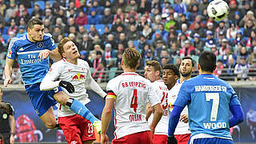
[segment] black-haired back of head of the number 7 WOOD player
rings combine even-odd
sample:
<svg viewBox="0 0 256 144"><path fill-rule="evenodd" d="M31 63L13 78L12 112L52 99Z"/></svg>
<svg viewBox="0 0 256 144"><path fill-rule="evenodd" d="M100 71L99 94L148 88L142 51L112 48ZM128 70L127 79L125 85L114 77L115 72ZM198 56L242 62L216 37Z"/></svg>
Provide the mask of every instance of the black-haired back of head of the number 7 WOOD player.
<svg viewBox="0 0 256 144"><path fill-rule="evenodd" d="M203 51L198 59L198 70L200 72L213 73L216 68L216 56L211 51Z"/></svg>

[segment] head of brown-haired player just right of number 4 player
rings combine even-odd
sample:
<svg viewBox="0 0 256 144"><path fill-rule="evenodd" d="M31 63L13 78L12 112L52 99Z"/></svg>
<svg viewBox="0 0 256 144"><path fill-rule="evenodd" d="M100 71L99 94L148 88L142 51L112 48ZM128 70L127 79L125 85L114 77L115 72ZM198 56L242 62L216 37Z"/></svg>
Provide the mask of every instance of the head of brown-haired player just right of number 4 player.
<svg viewBox="0 0 256 144"><path fill-rule="evenodd" d="M161 64L158 61L146 61L144 76L146 79L149 79L150 82L154 82L160 79L161 69Z"/></svg>

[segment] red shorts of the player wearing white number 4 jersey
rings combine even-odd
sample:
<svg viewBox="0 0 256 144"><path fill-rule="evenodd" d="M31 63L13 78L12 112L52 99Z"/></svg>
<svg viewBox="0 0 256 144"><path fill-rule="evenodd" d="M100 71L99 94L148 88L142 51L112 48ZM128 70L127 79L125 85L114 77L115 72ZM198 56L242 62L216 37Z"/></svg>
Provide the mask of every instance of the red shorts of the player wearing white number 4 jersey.
<svg viewBox="0 0 256 144"><path fill-rule="evenodd" d="M129 134L122 138L114 139L112 144L146 143L152 144L152 132L142 131L135 134Z"/></svg>

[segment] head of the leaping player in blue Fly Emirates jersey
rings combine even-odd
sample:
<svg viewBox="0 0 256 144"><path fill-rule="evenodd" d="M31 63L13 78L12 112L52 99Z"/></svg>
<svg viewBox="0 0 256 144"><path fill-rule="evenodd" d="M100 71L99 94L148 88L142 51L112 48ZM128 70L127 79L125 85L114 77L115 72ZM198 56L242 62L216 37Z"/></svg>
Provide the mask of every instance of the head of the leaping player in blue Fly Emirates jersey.
<svg viewBox="0 0 256 144"><path fill-rule="evenodd" d="M27 22L27 34L32 42L40 42L43 38L44 26L41 19L32 18Z"/></svg>

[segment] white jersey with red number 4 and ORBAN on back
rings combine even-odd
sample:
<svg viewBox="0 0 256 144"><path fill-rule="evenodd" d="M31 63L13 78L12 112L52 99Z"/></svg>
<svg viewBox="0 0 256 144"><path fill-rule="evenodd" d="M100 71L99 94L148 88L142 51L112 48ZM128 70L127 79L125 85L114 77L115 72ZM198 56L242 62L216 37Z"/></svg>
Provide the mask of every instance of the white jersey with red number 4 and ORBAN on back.
<svg viewBox="0 0 256 144"><path fill-rule="evenodd" d="M123 73L111 79L106 90L116 98L114 102L116 139L150 130L146 121L146 103L150 102L151 106L154 106L160 103L160 100L148 79L132 72Z"/></svg>

